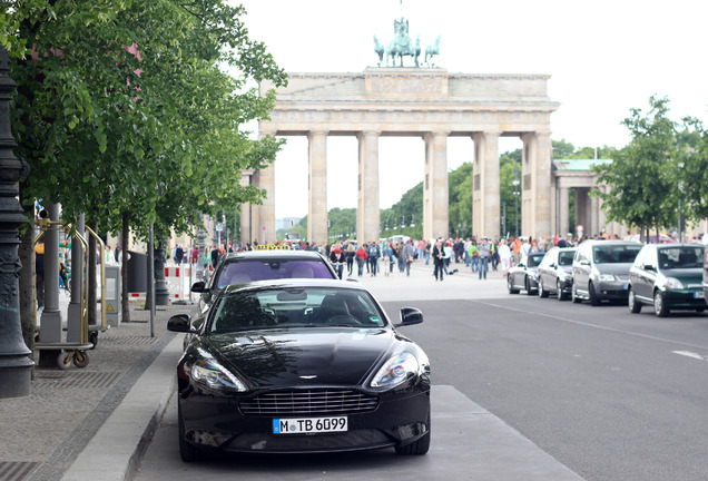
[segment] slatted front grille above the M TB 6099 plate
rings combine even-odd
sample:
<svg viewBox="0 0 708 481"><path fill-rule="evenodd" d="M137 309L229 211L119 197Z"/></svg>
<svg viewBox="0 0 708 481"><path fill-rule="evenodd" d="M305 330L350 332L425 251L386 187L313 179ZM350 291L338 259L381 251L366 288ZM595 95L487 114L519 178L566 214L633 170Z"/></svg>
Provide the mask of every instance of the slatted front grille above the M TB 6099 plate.
<svg viewBox="0 0 708 481"><path fill-rule="evenodd" d="M276 391L239 404L246 415L337 414L373 411L378 397L352 390Z"/></svg>

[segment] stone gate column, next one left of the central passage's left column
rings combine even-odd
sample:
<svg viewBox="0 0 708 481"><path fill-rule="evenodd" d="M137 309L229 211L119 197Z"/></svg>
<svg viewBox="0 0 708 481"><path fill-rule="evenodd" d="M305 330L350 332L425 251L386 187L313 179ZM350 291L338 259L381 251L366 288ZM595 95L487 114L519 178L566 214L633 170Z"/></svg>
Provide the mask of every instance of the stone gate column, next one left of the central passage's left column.
<svg viewBox="0 0 708 481"><path fill-rule="evenodd" d="M307 198L307 240L327 243L327 131L307 134L309 176Z"/></svg>

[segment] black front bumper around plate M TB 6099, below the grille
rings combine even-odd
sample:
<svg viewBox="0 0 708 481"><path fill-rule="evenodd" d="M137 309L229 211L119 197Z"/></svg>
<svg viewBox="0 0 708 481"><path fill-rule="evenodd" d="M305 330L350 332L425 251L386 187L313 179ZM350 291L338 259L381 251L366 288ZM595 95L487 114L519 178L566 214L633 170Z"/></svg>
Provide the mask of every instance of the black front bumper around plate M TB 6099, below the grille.
<svg viewBox="0 0 708 481"><path fill-rule="evenodd" d="M370 412L342 412L347 431L336 433L274 434L274 419L324 414L245 415L239 409L243 399L180 394L185 440L199 449L228 452L317 453L403 446L430 431L430 386L380 394Z"/></svg>

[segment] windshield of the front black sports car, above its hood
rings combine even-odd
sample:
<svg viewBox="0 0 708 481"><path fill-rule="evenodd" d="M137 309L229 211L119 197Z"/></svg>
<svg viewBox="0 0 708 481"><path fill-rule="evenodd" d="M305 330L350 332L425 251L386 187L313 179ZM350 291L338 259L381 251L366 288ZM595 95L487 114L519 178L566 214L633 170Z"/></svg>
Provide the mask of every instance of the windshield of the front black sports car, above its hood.
<svg viewBox="0 0 708 481"><path fill-rule="evenodd" d="M209 332L317 326L383 327L383 313L366 291L297 287L224 294Z"/></svg>

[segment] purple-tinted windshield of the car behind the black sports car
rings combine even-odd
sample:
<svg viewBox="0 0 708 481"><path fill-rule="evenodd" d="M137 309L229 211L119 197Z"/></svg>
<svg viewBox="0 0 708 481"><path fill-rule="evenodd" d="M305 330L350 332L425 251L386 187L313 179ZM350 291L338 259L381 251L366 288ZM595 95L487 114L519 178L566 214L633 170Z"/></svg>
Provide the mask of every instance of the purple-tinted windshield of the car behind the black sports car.
<svg viewBox="0 0 708 481"><path fill-rule="evenodd" d="M222 288L250 281L281 278L333 278L333 276L326 264L316 259L240 259L224 265L214 286Z"/></svg>

